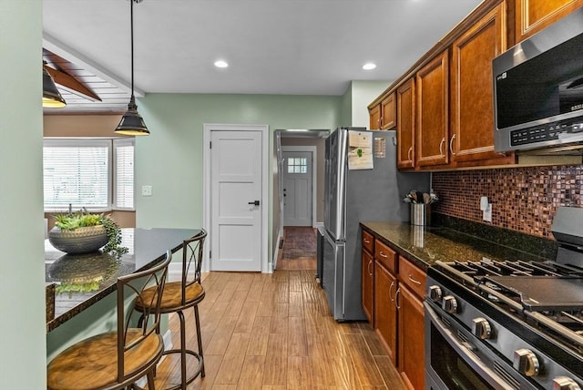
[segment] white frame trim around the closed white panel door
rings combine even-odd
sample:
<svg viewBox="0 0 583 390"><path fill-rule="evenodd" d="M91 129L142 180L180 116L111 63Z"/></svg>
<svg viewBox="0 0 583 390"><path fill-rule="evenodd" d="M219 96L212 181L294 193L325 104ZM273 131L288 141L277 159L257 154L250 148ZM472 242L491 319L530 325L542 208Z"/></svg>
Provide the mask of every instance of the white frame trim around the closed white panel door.
<svg viewBox="0 0 583 390"><path fill-rule="evenodd" d="M203 125L203 152L202 152L202 225L209 232L207 241L212 240L212 231L210 231L210 132L211 131L261 131L261 272L273 272L268 268L268 232L269 232L269 126L267 125L230 125L230 124L213 124L205 123ZM210 242L204 245L204 261L202 269L210 270Z"/></svg>

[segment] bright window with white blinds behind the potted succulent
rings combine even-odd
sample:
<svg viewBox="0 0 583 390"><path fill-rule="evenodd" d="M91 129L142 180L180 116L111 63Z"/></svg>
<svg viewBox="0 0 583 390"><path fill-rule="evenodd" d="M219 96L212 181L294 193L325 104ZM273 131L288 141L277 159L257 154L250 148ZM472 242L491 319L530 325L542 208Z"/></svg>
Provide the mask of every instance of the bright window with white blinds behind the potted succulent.
<svg viewBox="0 0 583 390"><path fill-rule="evenodd" d="M133 139L45 139L43 180L45 210L133 210Z"/></svg>

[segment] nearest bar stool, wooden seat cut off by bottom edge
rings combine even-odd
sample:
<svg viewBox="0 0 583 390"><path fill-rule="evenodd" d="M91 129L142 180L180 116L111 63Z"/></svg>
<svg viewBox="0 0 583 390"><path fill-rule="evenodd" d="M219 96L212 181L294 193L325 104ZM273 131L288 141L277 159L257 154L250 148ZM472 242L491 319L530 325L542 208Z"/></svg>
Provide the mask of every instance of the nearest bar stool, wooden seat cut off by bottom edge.
<svg viewBox="0 0 583 390"><path fill-rule="evenodd" d="M97 334L73 344L47 366L46 383L51 390L117 390L131 386L147 376L148 389L154 389L154 369L162 357L164 341L160 336L160 303L168 264L166 259L146 271L118 278L117 330ZM157 292L145 301L146 289ZM132 304L128 305L128 299ZM137 304L148 310L137 312ZM136 327L138 316L145 321Z"/></svg>

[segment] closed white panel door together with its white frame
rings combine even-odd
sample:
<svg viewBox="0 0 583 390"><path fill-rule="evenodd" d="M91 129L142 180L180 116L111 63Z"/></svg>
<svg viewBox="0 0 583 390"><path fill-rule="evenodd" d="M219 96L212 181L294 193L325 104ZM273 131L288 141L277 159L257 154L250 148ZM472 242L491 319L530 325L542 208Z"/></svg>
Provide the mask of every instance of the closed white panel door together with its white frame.
<svg viewBox="0 0 583 390"><path fill-rule="evenodd" d="M268 272L268 127L204 125L204 269Z"/></svg>

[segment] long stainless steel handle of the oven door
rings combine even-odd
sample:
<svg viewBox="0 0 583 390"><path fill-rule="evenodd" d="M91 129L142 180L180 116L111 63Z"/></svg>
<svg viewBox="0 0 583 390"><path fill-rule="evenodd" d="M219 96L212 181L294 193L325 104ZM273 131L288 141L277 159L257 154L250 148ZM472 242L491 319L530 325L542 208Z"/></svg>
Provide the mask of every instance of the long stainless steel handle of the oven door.
<svg viewBox="0 0 583 390"><path fill-rule="evenodd" d="M504 379L486 367L475 354L472 354L471 350L468 349L468 346L471 346L471 344L460 343L457 337L455 337L455 334L452 334L452 332L443 325L433 308L426 302L424 302L423 305L425 308L425 315L429 315L431 323L433 323L439 333L444 336L447 343L455 349L455 352L466 362L470 363L478 375L482 376L490 385L493 385L496 388L508 387L508 383Z"/></svg>

